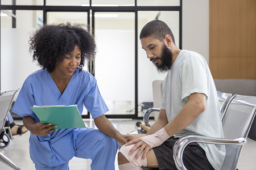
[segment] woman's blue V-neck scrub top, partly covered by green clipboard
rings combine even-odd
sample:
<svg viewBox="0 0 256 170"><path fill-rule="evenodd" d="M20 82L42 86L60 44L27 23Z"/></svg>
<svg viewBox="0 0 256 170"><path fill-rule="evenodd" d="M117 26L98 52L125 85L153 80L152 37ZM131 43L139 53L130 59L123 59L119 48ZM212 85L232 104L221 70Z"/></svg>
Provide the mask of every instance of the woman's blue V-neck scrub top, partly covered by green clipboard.
<svg viewBox="0 0 256 170"><path fill-rule="evenodd" d="M30 116L35 119L35 123L40 122L39 118L32 111L33 105L77 105L80 114L83 105L97 118L109 111L98 90L97 81L88 71L75 71L68 86L61 95L55 82L47 70L35 71L25 80L19 95L15 101L13 112L19 116ZM34 163L40 164L38 159L42 156L37 150L52 152L51 143L57 142L61 137L77 131L76 129L59 129L44 137L30 134L30 156ZM47 142L48 141L48 142ZM61 143L60 143L61 145ZM41 153L42 154L42 153Z"/></svg>

